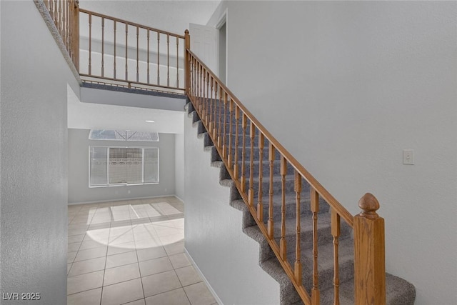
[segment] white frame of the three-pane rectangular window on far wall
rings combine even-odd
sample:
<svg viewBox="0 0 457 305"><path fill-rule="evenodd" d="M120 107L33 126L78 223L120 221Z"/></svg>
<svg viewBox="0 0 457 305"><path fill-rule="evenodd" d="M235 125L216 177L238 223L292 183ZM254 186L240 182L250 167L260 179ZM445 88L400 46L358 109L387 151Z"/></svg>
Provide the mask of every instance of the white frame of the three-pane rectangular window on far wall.
<svg viewBox="0 0 457 305"><path fill-rule="evenodd" d="M91 185L91 149L93 147L104 147L107 149L106 151L106 182L107 184L96 184ZM121 183L121 184L110 184L109 183L109 149L141 149L141 179L144 181L144 150L145 149L157 149L157 181L156 182L142 182L142 183ZM89 162L88 163L88 185L90 189L99 188L99 187L113 187L113 186L141 186L141 185L152 185L152 184L159 184L160 183L160 149L158 146L114 146L114 145L89 145Z"/></svg>

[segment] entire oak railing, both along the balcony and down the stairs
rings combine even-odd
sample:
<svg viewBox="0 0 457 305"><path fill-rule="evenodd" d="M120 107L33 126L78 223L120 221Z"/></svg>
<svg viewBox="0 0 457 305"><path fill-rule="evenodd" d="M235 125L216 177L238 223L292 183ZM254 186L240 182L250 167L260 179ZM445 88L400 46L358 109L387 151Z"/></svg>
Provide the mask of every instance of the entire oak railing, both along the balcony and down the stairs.
<svg viewBox="0 0 457 305"><path fill-rule="evenodd" d="M383 219L376 214L379 208L376 198L371 194L363 196L359 201L361 214L352 216L191 51L189 31L181 36L86 11L79 9L77 0L44 0L44 4L84 81L181 91L189 96L253 219L305 304L320 302L319 199L328 204L331 212L333 304L339 304L338 240L341 221L353 229L356 304L386 303L384 227ZM254 154L255 142L257 155ZM273 189L276 183L273 181L275 161L281 165L279 173L276 173L281 178L276 182L281 186L276 190ZM269 168L269 176L263 174L268 173L268 170L263 170L264 162ZM254 172L258 172L256 178ZM293 181L293 189L286 190L286 179ZM263 181L268 182L267 191L262 191ZM302 282L303 249L300 241L303 224L300 215L305 181L313 219L312 266L308 266L312 270L311 286ZM296 198L293 261L288 258L286 250L286 191ZM268 200L264 200L262 194L267 194ZM271 215L273 201L278 198L281 219L275 221ZM263 219L264 205L268 210L268 219ZM278 222L279 226L275 229Z"/></svg>

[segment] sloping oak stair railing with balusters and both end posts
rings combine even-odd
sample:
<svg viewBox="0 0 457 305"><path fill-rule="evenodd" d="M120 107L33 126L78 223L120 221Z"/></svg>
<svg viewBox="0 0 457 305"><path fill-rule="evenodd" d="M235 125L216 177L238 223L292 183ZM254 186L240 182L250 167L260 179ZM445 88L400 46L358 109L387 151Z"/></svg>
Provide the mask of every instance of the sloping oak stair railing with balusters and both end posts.
<svg viewBox="0 0 457 305"><path fill-rule="evenodd" d="M236 98L220 79L190 50L189 31L186 31L186 94L189 96L194 109L199 115L206 131L216 146L233 183L238 189L241 198L246 203L258 229L265 236L271 250L283 267L298 295L307 305L320 304L321 289L319 282L318 264L318 212L320 199L326 201L331 214L331 236L333 238L333 304L339 304L339 239L341 236L341 219L354 229L354 256L356 304L385 304L385 267L384 267L384 239L383 219L378 217L373 208L374 196L366 195L361 199L363 212L354 217L266 130L266 128L251 114L248 109ZM219 115L218 115L219 112ZM239 132L238 132L239 131ZM241 132L241 135L240 135ZM233 135L234 133L234 135ZM234 140L233 140L234 136ZM242 144L239 143L239 136ZM258 162L254 165L254 144L258 137ZM266 145L268 141L268 145ZM233 146L234 145L234 146ZM268 160L264 160L263 149L268 147ZM241 158L238 150L241 149ZM246 150L248 153L246 153ZM278 179L273 177L276 155L280 157L281 165ZM241 159L241 169L238 161ZM268 189L268 220L263 219L263 161L268 162L269 189ZM288 167L291 166L291 167ZM258 169L258 179L254 179L253 172ZM293 194L295 194L295 231L293 244L288 244L291 232L286 231L286 193L291 194L291 172L293 169ZM246 171L248 174L246 174ZM302 281L301 263L301 204L302 179L308 183L310 190L310 211L312 226L312 274L311 283L307 288ZM278 185L280 182L280 186ZM273 186L276 183L276 191ZM278 189L279 188L279 189ZM256 193L258 198L256 198ZM275 194L279 196L275 199ZM257 200L257 201L256 201ZM280 232L275 234L273 202L280 201L281 219L276 228ZM367 204L367 202L369 204ZM376 201L377 202L377 201ZM290 212L288 212L290 213ZM277 216L279 218L279 216ZM374 232L374 233L373 233ZM374 235L373 235L374 234ZM276 238L276 239L275 239ZM278 239L278 240L277 240ZM292 247L292 248L290 248ZM295 259L288 257L294 249ZM292 259L292 260L291 260ZM308 266L309 268L309 266ZM310 286L311 285L311 286ZM308 289L308 290L307 290ZM309 293L308 293L309 291ZM362 296L363 295L363 296ZM368 301L369 299L369 301ZM371 301L376 300L375 303Z"/></svg>

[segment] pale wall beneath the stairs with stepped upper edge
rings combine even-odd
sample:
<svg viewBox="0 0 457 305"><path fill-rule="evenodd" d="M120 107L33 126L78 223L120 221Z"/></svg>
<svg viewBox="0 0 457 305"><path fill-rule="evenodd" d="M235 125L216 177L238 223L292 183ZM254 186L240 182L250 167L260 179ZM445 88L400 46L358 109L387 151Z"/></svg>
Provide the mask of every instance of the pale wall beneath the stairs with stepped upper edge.
<svg viewBox="0 0 457 305"><path fill-rule="evenodd" d="M258 243L243 233L243 215L229 205L230 189L188 117L184 147L186 251L222 304L279 304L279 284L258 266Z"/></svg>

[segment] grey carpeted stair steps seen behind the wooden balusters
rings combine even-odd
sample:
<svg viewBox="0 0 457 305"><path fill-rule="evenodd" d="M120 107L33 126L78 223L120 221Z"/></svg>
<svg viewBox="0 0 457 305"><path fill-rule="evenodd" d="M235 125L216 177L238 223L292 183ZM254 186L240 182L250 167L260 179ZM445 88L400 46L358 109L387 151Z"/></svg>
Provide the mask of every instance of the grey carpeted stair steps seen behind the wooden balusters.
<svg viewBox="0 0 457 305"><path fill-rule="evenodd" d="M293 284L291 284L290 279L286 275L286 272L279 264L278 259L273 254L271 247L268 245L266 238L263 236L261 230L251 216L248 207L241 199L241 195L236 189L235 184L229 176L229 172L224 166L224 162L221 161L221 156L219 156L216 147L211 141L211 138L204 128L199 119L198 114L194 110L194 106L191 103L186 105L188 115L192 118L194 126L197 126L199 134L204 137L204 145L206 151L211 151L211 166L216 166L220 168L220 183L223 186L229 187L231 189L231 196L229 201L233 208L238 209L243 212L243 232L250 236L252 239L258 242L259 244L259 254L258 262L261 268L266 271L270 276L273 277L280 284L281 291L281 304L303 304L300 296L298 296L296 289ZM216 111L219 114L219 109ZM224 109L221 109L221 113L224 114ZM219 120L219 117L217 118ZM227 121L228 123L228 121ZM232 119L230 133L235 136L236 128L238 128L238 143L243 141L241 134L242 126ZM226 124L226 128L229 124ZM227 129L229 131L229 129ZM254 136L254 146L253 146L253 156L254 163L256 166L253 167L253 176L256 178L256 183L254 184L254 198L258 198L258 171L260 166L258 166L258 135ZM251 151L250 141L251 138L246 135L246 160L249 160L249 155ZM234 143L234 141L233 141ZM266 141L265 147L268 147L268 142ZM233 144L234 149L234 144ZM268 155L266 148L263 148L264 155ZM238 151L238 154L241 156L242 151ZM241 161L238 162L238 166L241 168ZM250 164L246 161L246 176L249 176ZM269 175L269 164L268 161L263 160L263 176ZM277 155L273 161L273 189L275 194L279 194L281 190L281 170L280 170L280 159ZM263 220L266 224L266 221L269 218L268 215L268 189L269 181L262 181L262 198L263 203L265 204L263 208ZM312 269L313 269L313 214L310 210L310 200L309 200L309 189L310 187L306 182L302 182L302 200L301 200L301 262L303 264L303 286L306 287L307 291L311 291L313 286L312 279ZM296 193L294 191L294 179L293 179L293 169L289 167L286 171L286 244L291 245L287 250L287 259L291 265L295 261L295 247L296 244L296 235L295 235L295 226L296 226ZM273 196L273 221L275 224L275 234L274 238L279 243L280 233L281 233L281 197L278 195ZM354 301L354 266L353 266L353 238L351 236L351 228L345 224L341 225L341 235L339 238L339 280L340 280L340 304L355 304ZM320 293L321 304L333 304L333 238L331 235L331 214L329 213L328 204L325 201L319 201L319 211L318 211L318 284ZM391 274L386 274L386 304L389 305L408 305L413 304L416 296L416 290L414 286L407 281L393 276Z"/></svg>

